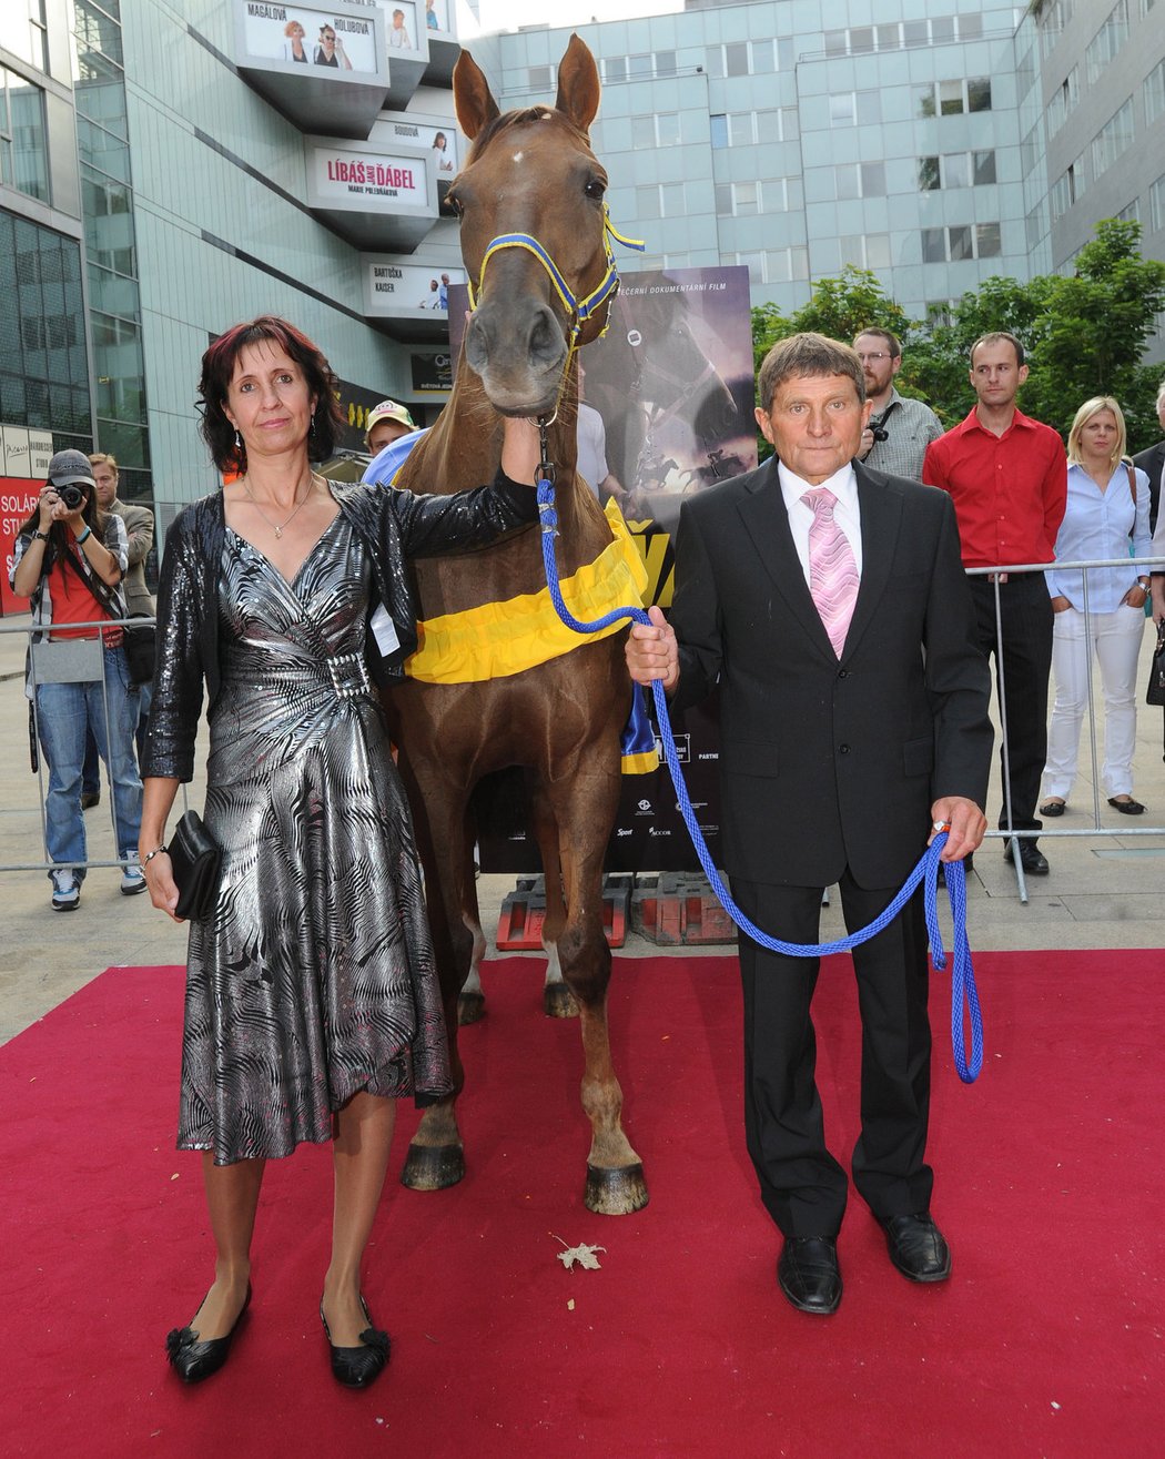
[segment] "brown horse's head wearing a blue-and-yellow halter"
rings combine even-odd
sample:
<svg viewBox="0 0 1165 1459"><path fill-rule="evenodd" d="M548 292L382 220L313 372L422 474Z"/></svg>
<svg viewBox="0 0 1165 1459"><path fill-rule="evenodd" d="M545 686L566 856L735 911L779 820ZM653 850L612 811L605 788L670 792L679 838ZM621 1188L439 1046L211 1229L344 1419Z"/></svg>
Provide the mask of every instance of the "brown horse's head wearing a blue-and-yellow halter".
<svg viewBox="0 0 1165 1459"><path fill-rule="evenodd" d="M466 360L502 414L549 414L574 347L606 322L618 280L606 235L607 175L588 142L599 70L572 35L555 105L502 115L463 51L453 95L473 140L448 193L474 305Z"/></svg>

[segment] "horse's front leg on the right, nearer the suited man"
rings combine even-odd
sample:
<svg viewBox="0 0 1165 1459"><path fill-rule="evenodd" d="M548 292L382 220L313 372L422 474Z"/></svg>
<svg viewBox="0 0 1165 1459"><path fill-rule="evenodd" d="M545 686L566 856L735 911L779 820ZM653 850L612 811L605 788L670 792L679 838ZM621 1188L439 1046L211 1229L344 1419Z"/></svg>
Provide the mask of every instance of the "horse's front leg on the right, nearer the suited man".
<svg viewBox="0 0 1165 1459"><path fill-rule="evenodd" d="M607 829L615 821L619 778L615 772L569 779L569 785L550 782L547 794L562 827L566 893L566 922L558 948L562 975L580 1010L582 1109L591 1122L584 1204L600 1215L628 1215L647 1205L648 1193L642 1161L623 1132L623 1091L607 1029L610 948L603 931L603 856Z"/></svg>

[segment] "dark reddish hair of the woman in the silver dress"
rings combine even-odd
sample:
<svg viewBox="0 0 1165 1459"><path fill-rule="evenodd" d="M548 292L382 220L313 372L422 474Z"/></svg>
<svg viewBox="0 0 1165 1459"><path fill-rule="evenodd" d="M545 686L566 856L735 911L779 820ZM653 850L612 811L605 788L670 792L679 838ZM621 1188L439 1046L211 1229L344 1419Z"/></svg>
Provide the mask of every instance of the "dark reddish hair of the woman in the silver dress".
<svg viewBox="0 0 1165 1459"><path fill-rule="evenodd" d="M308 391L315 395L312 430L308 433L308 458L326 461L336 452L336 442L343 429L343 417L336 400L336 375L318 346L312 344L293 324L273 314L260 314L247 324L235 324L220 334L203 355L203 369L199 376L199 429L210 448L210 457L219 471L245 470L245 449L235 446L235 427L226 419L223 404L226 391L235 374L238 357L248 344L269 340L277 344L304 372Z"/></svg>

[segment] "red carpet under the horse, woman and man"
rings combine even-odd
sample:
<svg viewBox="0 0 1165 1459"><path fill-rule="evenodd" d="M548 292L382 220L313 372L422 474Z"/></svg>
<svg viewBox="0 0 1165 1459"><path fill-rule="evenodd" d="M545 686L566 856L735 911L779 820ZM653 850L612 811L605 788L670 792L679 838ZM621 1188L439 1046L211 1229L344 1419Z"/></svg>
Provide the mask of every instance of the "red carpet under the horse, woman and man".
<svg viewBox="0 0 1165 1459"><path fill-rule="evenodd" d="M492 964L489 1017L464 1036L470 1174L435 1196L387 1191L366 1291L393 1361L364 1395L333 1383L315 1316L317 1148L269 1166L228 1367L194 1389L168 1371L165 1334L210 1275L199 1157L172 1148L181 975L112 969L0 1049L0 1453L1159 1455L1161 963L980 954L971 1088L936 975L934 1211L955 1274L904 1281L856 1201L832 1319L775 1287L740 1128L733 960L616 960L616 1056L651 1186L619 1220L581 1204L578 1027L542 1017L540 963ZM819 1074L842 1156L853 1004L832 959ZM550 1233L604 1246L601 1269L568 1272Z"/></svg>

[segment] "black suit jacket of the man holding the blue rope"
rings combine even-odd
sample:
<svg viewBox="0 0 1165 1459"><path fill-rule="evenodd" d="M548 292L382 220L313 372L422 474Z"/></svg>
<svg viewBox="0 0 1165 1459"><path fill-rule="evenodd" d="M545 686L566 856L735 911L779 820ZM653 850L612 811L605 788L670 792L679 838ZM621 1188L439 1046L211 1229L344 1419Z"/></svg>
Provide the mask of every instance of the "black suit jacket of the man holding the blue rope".
<svg viewBox="0 0 1165 1459"><path fill-rule="evenodd" d="M724 865L750 881L896 887L930 805L983 805L990 674L950 496L854 464L861 585L838 662L775 460L685 502L674 705L720 683Z"/></svg>

